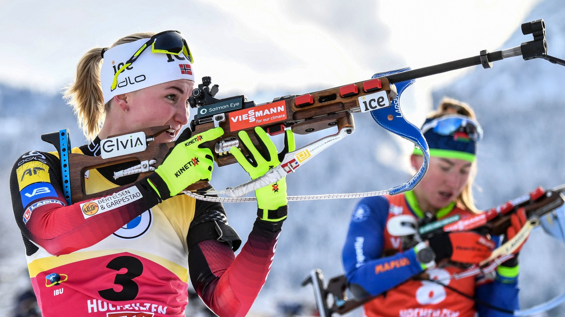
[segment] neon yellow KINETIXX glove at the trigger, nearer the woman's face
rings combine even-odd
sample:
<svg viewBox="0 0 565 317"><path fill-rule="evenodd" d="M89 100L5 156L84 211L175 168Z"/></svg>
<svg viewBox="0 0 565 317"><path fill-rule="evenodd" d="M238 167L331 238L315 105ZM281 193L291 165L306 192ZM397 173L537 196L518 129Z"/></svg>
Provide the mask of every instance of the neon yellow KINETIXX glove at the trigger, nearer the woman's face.
<svg viewBox="0 0 565 317"><path fill-rule="evenodd" d="M175 196L198 180L210 180L214 169L214 157L210 149L201 145L219 138L224 134L224 130L215 127L189 138L183 138L184 134L183 132L176 140L176 145L171 148L163 164L148 177L149 184L162 200Z"/></svg>

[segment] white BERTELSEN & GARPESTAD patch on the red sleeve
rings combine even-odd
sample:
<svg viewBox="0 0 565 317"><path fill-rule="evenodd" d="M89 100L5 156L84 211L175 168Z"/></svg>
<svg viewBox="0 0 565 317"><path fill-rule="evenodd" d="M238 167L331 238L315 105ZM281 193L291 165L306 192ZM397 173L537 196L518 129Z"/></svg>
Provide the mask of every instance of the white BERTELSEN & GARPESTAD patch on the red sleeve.
<svg viewBox="0 0 565 317"><path fill-rule="evenodd" d="M123 191L113 193L110 196L94 199L80 204L82 215L85 219L98 215L108 210L116 209L132 201L143 197L137 187L132 186Z"/></svg>

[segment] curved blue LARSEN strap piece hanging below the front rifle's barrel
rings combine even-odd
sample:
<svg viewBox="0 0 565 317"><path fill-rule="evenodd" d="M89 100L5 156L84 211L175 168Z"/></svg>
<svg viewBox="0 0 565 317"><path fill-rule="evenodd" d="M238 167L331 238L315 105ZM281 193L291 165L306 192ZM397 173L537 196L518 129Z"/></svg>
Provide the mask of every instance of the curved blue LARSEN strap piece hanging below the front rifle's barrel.
<svg viewBox="0 0 565 317"><path fill-rule="evenodd" d="M410 71L410 69L410 67L407 67L396 69L390 72L378 73L374 74L372 78L386 77L391 74ZM403 183L397 187L390 188L390 195L413 190L414 187L416 187L416 185L418 185L420 180L424 177L426 171L428 171L428 143L426 142L421 130L418 129L417 126L411 124L406 120L406 118L402 115L402 110L400 108L400 96L402 95L402 92L414 82L415 80L407 80L395 83L397 88L397 95L396 98L394 98L392 102L390 102L390 107L379 108L371 111L371 116L373 117L375 122L377 122L377 124L384 127L386 130L399 135L402 138L410 140L410 142L418 146L424 154L424 162L420 169L416 172L416 174L414 174L414 176L412 176L412 178L406 183ZM392 120L389 120L389 118L392 118Z"/></svg>

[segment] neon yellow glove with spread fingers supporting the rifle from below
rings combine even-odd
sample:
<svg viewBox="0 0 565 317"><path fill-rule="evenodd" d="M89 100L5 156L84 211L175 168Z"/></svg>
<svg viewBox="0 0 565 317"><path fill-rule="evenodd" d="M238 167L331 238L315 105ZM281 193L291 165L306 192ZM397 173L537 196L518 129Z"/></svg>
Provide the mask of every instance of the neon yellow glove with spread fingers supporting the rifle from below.
<svg viewBox="0 0 565 317"><path fill-rule="evenodd" d="M251 179L258 178L279 165L285 154L295 149L294 134L290 130L285 131L285 147L281 153L277 153L275 144L261 127L255 127L254 134L262 148L261 152L254 146L245 131L240 131L238 137L242 146L249 153L249 157L245 157L236 147L230 149L232 155L249 173ZM259 206L259 218L273 222L284 220L286 218L286 204L288 204L286 196L286 177L256 190L255 197L257 197L257 205Z"/></svg>

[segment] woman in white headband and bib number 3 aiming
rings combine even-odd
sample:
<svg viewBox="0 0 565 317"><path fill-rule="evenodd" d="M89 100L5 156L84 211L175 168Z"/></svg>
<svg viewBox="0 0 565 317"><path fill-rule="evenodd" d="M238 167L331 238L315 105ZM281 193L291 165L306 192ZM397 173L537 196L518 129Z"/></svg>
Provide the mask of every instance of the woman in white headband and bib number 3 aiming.
<svg viewBox="0 0 565 317"><path fill-rule="evenodd" d="M177 31L136 33L108 49L88 51L66 96L92 142L72 152L98 156L111 150L101 149L101 140L150 126L170 125L154 142L172 142L189 122L192 63ZM189 132L138 182L137 174L113 177L135 163L88 171L87 193L134 183L72 205L63 195L56 152L31 151L16 161L12 204L43 316L184 316L189 276L217 315L247 314L265 283L286 218L285 180L277 191L268 186L255 192L258 218L235 257L241 240L224 207L181 193L198 180L210 180L212 153L199 145L223 131L216 127L192 137ZM254 157L236 153L253 178L280 164L266 133L256 129L255 134L268 153L259 153L246 133L240 138ZM286 151L293 151L290 131L285 140Z"/></svg>

